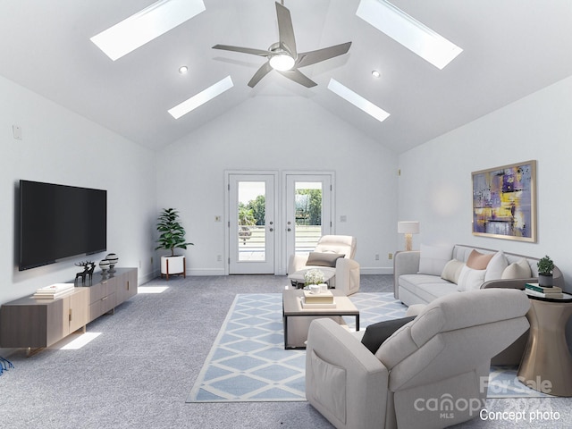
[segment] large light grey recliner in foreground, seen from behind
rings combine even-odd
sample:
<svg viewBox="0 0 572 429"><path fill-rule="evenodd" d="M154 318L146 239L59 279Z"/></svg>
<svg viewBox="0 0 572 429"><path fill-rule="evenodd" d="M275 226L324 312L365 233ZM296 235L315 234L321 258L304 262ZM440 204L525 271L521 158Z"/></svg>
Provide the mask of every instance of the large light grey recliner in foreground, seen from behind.
<svg viewBox="0 0 572 429"><path fill-rule="evenodd" d="M522 290L451 294L373 354L331 319L310 324L307 400L337 428L441 428L479 416L491 357L528 327Z"/></svg>

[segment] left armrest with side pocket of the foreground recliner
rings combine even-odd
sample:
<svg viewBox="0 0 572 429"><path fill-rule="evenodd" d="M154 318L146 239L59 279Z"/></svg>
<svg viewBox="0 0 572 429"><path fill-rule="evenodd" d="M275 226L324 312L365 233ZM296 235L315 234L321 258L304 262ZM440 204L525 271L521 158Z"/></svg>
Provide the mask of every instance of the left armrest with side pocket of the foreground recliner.
<svg viewBox="0 0 572 429"><path fill-rule="evenodd" d="M332 319L310 324L306 398L337 428L383 427L389 372L350 332Z"/></svg>

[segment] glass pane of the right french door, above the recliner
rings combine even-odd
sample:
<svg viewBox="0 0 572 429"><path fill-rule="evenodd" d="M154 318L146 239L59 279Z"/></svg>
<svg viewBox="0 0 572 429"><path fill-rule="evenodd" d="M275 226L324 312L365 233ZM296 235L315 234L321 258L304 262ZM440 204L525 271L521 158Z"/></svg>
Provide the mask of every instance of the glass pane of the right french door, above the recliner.
<svg viewBox="0 0 572 429"><path fill-rule="evenodd" d="M307 255L322 236L322 182L297 181L294 191L296 254Z"/></svg>

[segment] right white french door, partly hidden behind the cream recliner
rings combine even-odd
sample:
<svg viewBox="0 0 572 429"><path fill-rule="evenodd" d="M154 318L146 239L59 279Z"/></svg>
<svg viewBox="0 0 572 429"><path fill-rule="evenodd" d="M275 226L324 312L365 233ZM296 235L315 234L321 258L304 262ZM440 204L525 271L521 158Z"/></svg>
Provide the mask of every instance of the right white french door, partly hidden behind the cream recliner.
<svg viewBox="0 0 572 429"><path fill-rule="evenodd" d="M332 233L332 173L285 174L286 257L308 254Z"/></svg>

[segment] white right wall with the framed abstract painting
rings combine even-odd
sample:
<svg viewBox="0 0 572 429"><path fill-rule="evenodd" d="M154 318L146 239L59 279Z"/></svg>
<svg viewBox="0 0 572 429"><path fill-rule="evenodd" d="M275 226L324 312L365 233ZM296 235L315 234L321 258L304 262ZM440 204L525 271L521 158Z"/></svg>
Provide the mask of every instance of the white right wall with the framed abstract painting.
<svg viewBox="0 0 572 429"><path fill-rule="evenodd" d="M464 243L549 255L572 291L571 112L572 77L401 155L399 213L420 221L416 247ZM537 242L473 236L471 172L531 159L537 160Z"/></svg>

